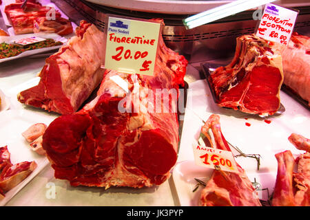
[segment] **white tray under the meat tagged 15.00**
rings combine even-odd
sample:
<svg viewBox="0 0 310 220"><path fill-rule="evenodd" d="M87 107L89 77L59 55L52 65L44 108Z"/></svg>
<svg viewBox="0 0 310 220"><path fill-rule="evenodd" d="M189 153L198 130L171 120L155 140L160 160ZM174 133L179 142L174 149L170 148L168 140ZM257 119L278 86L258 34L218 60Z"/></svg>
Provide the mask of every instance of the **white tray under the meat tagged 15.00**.
<svg viewBox="0 0 310 220"><path fill-rule="evenodd" d="M180 205L197 206L202 188L192 192L196 185L194 178L207 180L212 173L208 168L194 164L192 151L192 144L198 140L203 126L202 120L207 120L212 113L220 115L221 129L229 143L238 146L243 153L261 156L259 170L256 159L236 157L236 162L245 169L250 181L254 182L256 179L261 188L268 188L271 195L278 170L274 155L285 150L290 150L295 157L304 153L296 149L287 138L293 132L310 137L310 111L280 91L281 102L286 111L280 116L268 118L271 123L267 124L258 116L249 116L240 111L218 107L214 103L206 80L190 83L187 94L178 164L172 175ZM251 126L246 126L246 122ZM231 150L234 155L238 154ZM260 199L267 200L267 190L259 190L258 195Z"/></svg>

